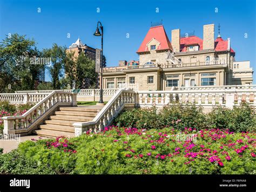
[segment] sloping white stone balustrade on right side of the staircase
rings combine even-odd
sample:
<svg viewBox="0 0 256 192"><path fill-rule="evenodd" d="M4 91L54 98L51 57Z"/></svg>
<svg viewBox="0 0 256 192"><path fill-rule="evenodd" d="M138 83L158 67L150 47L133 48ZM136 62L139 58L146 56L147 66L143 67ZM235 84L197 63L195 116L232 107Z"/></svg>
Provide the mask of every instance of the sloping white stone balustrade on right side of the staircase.
<svg viewBox="0 0 256 192"><path fill-rule="evenodd" d="M134 107L136 102L136 93L134 91L120 89L92 121L73 124L75 127L75 135L78 136L87 130L99 132L105 126L111 125L114 118L117 117L125 106L130 105Z"/></svg>

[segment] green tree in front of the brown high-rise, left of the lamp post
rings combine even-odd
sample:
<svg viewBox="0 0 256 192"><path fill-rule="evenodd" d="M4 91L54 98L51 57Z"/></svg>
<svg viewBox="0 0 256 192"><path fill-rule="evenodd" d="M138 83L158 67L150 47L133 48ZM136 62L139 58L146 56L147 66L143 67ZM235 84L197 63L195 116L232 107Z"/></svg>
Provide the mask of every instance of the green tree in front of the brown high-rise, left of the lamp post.
<svg viewBox="0 0 256 192"><path fill-rule="evenodd" d="M84 53L80 53L76 58L74 53L66 54L65 60L66 83L72 85L75 81L76 88L83 88L84 79L90 79L90 85L95 86L97 73L95 72L95 61L88 58Z"/></svg>

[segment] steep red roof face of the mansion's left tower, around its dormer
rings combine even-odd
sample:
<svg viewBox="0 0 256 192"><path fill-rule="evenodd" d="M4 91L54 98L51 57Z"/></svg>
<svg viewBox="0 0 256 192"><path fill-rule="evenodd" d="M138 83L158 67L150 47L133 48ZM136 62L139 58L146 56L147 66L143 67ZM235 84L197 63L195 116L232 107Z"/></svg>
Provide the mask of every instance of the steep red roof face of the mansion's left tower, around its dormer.
<svg viewBox="0 0 256 192"><path fill-rule="evenodd" d="M167 49L172 50L172 45L170 43L169 38L166 35L164 26L160 25L160 26L154 26L149 29L142 44L140 44L140 47L137 53L149 51L149 49L147 48L147 43L149 43L152 38L160 42L160 45L157 47L156 50L167 50Z"/></svg>

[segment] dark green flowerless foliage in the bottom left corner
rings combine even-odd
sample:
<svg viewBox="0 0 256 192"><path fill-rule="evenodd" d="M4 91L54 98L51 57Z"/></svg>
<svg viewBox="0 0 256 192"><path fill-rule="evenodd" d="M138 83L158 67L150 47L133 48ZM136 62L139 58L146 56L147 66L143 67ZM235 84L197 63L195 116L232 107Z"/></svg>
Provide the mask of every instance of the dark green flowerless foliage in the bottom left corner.
<svg viewBox="0 0 256 192"><path fill-rule="evenodd" d="M0 155L0 173L2 174L55 174L47 164L39 164L17 150Z"/></svg>

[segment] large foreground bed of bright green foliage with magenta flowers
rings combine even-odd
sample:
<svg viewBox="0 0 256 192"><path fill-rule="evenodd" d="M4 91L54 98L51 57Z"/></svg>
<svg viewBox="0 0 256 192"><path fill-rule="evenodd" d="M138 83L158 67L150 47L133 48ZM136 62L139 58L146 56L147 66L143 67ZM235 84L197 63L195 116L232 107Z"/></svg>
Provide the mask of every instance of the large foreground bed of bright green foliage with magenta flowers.
<svg viewBox="0 0 256 192"><path fill-rule="evenodd" d="M49 163L57 173L254 174L255 141L255 133L227 129L111 126L69 140L26 141L19 145L19 152Z"/></svg>

